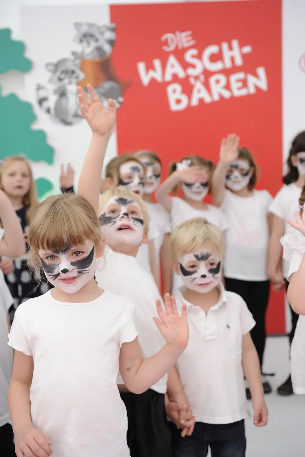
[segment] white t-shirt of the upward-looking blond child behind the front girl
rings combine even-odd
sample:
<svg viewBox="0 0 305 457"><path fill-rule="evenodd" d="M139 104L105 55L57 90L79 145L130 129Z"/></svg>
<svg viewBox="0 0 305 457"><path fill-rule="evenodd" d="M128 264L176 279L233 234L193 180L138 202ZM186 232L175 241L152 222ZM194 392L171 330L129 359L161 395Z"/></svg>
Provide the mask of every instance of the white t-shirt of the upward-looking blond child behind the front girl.
<svg viewBox="0 0 305 457"><path fill-rule="evenodd" d="M104 255L97 260L95 277L99 287L122 295L134 303L133 318L139 332L139 345L143 357L155 355L165 345L153 317L157 316L156 300L163 300L151 273L144 270L131 255L113 252L106 246ZM123 384L118 377L118 384ZM151 388L166 393L167 375Z"/></svg>

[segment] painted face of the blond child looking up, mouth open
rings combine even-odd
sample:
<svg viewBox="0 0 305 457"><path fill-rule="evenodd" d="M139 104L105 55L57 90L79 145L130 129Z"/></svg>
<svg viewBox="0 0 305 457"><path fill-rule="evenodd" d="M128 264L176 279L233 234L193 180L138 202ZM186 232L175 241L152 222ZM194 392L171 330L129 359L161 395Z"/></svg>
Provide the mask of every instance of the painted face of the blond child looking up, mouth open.
<svg viewBox="0 0 305 457"><path fill-rule="evenodd" d="M106 244L115 249L118 244L139 246L144 236L141 208L131 198L112 197L99 217Z"/></svg>

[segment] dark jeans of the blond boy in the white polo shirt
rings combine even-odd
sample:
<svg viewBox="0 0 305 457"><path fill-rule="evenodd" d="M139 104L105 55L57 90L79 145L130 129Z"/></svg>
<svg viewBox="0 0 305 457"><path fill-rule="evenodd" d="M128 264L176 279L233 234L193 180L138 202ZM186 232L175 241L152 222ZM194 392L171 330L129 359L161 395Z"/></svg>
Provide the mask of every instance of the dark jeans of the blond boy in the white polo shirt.
<svg viewBox="0 0 305 457"><path fill-rule="evenodd" d="M245 457L245 421L233 424L204 424L196 422L191 436L181 437L171 423L173 457L206 457L209 447L212 457Z"/></svg>

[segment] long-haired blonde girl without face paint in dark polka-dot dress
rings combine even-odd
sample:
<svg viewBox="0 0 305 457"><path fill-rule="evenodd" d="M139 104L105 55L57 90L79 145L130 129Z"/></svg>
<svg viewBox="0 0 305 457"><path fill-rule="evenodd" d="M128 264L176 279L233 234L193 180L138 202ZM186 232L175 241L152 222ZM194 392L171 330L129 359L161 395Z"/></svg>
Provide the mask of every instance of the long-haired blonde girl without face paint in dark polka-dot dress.
<svg viewBox="0 0 305 457"><path fill-rule="evenodd" d="M38 201L32 170L26 159L20 156L11 156L1 163L0 188L10 199L27 242L29 224L37 210ZM5 276L14 298L14 306L10 309L11 322L20 303L28 298L38 297L49 288L45 278L40 284L37 282L37 277L27 266L27 255L15 258L13 264L14 270Z"/></svg>

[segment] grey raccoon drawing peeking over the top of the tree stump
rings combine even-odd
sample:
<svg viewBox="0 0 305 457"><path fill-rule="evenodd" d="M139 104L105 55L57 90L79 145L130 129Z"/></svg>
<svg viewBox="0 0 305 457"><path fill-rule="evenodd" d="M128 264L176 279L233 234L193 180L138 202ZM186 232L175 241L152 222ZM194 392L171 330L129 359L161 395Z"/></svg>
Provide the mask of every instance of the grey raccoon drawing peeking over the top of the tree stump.
<svg viewBox="0 0 305 457"><path fill-rule="evenodd" d="M80 57L103 58L112 53L116 39L115 24L99 26L93 22L75 22L74 43L81 45Z"/></svg>

